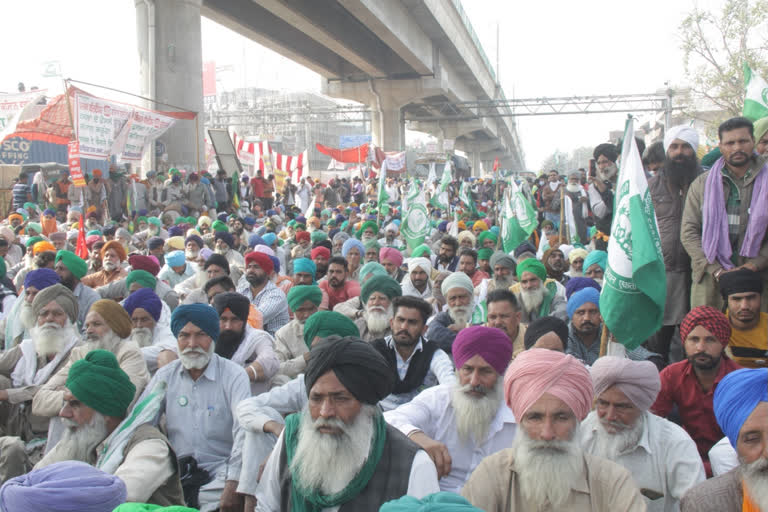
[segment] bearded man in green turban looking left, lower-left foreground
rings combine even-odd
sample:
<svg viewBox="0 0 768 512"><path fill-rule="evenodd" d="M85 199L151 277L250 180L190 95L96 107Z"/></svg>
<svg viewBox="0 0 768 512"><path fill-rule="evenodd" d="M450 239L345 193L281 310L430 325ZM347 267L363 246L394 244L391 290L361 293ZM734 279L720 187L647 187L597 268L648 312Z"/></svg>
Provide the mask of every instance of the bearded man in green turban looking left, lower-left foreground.
<svg viewBox="0 0 768 512"><path fill-rule="evenodd" d="M59 413L67 429L35 467L74 458L119 476L128 501L162 506L183 503L178 461L168 439L146 415L125 419L135 393L136 386L112 352L92 350L75 361ZM137 409L156 412L155 396L150 393ZM110 435L104 451L97 451L101 444L94 442Z"/></svg>

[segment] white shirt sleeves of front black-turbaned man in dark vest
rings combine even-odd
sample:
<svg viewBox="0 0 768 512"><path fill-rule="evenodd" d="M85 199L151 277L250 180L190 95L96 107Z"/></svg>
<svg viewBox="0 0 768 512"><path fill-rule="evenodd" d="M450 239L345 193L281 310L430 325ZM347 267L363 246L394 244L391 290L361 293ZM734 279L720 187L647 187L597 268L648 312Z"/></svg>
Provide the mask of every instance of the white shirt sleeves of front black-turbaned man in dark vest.
<svg viewBox="0 0 768 512"><path fill-rule="evenodd" d="M283 434L267 459L264 474L256 489L257 505L254 512L280 512L280 454L283 450ZM419 450L413 457L408 477L408 496L421 499L440 490L437 485L437 468L427 452ZM340 507L324 508L323 512L336 512Z"/></svg>

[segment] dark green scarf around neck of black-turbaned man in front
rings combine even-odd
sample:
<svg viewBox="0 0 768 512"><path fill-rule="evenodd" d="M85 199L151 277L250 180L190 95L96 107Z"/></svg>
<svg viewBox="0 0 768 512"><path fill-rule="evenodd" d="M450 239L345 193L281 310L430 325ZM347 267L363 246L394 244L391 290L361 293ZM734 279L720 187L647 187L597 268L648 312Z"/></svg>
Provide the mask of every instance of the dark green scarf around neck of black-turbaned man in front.
<svg viewBox="0 0 768 512"><path fill-rule="evenodd" d="M349 482L349 485L336 494L324 496L314 490L302 489L295 473L291 473L291 510L292 512L320 512L324 508L342 505L365 489L368 485L376 466L379 465L381 454L384 453L384 443L387 440L387 423L382 414L374 418L374 435L371 441L371 451L368 460L365 461L360 472ZM291 414L285 418L285 455L286 464L291 465L298 444L299 425L301 413Z"/></svg>

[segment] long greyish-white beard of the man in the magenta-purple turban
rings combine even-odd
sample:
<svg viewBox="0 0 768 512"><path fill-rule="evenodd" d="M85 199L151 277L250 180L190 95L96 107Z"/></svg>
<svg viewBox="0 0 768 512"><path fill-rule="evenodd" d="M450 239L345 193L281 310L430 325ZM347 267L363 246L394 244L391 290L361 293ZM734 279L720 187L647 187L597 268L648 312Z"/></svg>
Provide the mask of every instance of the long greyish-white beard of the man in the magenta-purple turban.
<svg viewBox="0 0 768 512"><path fill-rule="evenodd" d="M501 406L501 399L504 396L504 380L499 377L492 389L485 390L486 395L484 397L477 398L467 393L472 389L471 385L462 386L459 384L458 371L456 373L456 384L451 391L451 405L456 417L456 430L459 432L459 439L462 442L474 441L475 444L480 445L485 441L491 421Z"/></svg>

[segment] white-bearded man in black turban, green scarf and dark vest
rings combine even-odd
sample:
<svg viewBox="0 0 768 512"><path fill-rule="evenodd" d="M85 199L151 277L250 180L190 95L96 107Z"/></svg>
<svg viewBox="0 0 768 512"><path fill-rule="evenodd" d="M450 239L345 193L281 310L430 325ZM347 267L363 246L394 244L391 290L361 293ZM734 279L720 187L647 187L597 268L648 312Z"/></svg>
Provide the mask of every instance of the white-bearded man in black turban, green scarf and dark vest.
<svg viewBox="0 0 768 512"><path fill-rule="evenodd" d="M330 337L313 348L308 405L286 418L256 491L256 511L378 510L403 495L436 492L429 456L376 406L394 384L370 344Z"/></svg>

